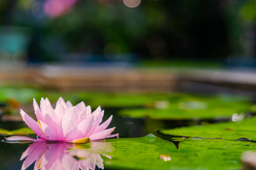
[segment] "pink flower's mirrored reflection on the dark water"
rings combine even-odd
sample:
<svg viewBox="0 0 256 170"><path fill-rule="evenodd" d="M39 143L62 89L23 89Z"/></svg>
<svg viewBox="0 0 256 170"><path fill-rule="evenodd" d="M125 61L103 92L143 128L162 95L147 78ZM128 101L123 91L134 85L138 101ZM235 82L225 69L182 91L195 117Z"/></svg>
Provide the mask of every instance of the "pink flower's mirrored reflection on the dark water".
<svg viewBox="0 0 256 170"><path fill-rule="evenodd" d="M74 145L63 142L34 142L23 152L20 160L24 160L22 168L26 169L35 162L34 169L104 169L101 156L108 155L113 147L106 142L93 142Z"/></svg>

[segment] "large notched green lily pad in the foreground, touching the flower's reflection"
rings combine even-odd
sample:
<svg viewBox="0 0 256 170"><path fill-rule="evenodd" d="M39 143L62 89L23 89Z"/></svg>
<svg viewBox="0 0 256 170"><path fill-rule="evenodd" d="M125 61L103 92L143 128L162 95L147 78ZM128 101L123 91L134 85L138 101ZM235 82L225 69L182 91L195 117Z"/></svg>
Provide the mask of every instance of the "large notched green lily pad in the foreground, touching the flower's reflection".
<svg viewBox="0 0 256 170"><path fill-rule="evenodd" d="M151 134L106 142L114 148L108 152L112 159L104 158L104 167L110 169L241 169L242 152L256 150L256 143L248 141L200 138L184 139L177 150Z"/></svg>

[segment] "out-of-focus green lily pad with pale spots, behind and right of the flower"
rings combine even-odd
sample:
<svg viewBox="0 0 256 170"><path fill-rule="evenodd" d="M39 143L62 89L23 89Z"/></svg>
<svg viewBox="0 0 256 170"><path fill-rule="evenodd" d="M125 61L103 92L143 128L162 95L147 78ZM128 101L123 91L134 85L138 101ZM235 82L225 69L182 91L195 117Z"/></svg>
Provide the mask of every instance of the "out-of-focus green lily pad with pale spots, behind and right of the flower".
<svg viewBox="0 0 256 170"><path fill-rule="evenodd" d="M234 113L251 110L248 100L229 96L183 96L157 101L154 108L123 109L121 116L136 118L150 117L165 120L191 120L193 118L212 119L230 117Z"/></svg>

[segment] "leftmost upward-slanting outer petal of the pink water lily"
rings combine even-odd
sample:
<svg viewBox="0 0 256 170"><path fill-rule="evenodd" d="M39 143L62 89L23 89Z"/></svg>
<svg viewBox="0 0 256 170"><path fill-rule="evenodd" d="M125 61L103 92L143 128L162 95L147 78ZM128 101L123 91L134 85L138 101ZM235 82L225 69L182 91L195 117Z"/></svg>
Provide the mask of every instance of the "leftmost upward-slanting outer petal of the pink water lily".
<svg viewBox="0 0 256 170"><path fill-rule="evenodd" d="M20 109L20 115L22 116L22 120L28 125L30 129L35 132L35 134L37 134L41 138L44 138L44 135L40 130L38 123L33 118L28 116L27 113L22 111L22 109Z"/></svg>

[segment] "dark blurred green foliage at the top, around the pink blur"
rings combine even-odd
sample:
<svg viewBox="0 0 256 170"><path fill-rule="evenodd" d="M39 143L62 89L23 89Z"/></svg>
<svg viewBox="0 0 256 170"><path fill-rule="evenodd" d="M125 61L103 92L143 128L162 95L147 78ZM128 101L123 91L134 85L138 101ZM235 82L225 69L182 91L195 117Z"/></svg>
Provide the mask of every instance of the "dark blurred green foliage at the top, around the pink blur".
<svg viewBox="0 0 256 170"><path fill-rule="evenodd" d="M63 53L103 54L108 44L117 45L118 53L156 59L239 56L245 50L241 36L254 32L256 15L251 0L142 1L135 8L122 1L89 0L78 1L58 18L38 19L31 12L35 3L0 2L0 25L31 28L31 60L60 59Z"/></svg>

